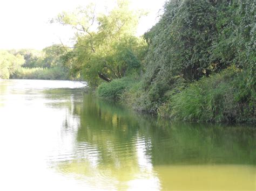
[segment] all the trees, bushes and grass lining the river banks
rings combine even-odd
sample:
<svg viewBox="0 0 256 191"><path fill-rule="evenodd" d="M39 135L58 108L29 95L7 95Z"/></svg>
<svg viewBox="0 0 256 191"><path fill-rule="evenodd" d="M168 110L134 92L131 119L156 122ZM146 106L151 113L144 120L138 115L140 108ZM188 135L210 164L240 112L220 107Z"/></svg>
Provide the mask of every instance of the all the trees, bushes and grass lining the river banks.
<svg viewBox="0 0 256 191"><path fill-rule="evenodd" d="M74 47L14 52L26 69L3 62L9 74L0 77L83 79L99 97L137 111L255 122L255 1L170 0L159 22L136 37L143 15L126 0L98 15L94 5L62 12L52 22L77 31Z"/></svg>

